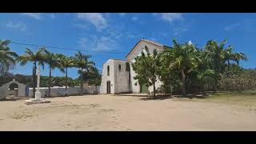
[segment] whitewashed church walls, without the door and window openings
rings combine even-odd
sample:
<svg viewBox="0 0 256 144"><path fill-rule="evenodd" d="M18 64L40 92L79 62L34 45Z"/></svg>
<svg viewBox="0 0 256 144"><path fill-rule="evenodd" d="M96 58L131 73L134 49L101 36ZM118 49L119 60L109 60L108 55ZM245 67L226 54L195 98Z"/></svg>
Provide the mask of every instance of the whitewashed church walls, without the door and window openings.
<svg viewBox="0 0 256 144"><path fill-rule="evenodd" d="M134 58L141 55L142 50L147 46L149 48L150 54L153 54L154 49L158 52L162 52L163 47L154 45L150 42L140 41L137 46L130 52L126 57L126 61L109 59L102 68L102 84L100 86L100 93L106 94L106 82L110 81L110 93L120 94L120 93L140 93L140 86L137 80L134 79L136 73L134 72L131 64L134 62ZM143 50L146 52L146 50ZM130 63L130 84L129 84L129 73L126 71L126 62ZM118 70L118 65L121 65L122 70ZM110 75L107 76L107 66L110 66ZM137 85L135 85L137 83ZM162 85L162 82L156 82L156 89ZM153 91L153 86L149 87L149 91Z"/></svg>

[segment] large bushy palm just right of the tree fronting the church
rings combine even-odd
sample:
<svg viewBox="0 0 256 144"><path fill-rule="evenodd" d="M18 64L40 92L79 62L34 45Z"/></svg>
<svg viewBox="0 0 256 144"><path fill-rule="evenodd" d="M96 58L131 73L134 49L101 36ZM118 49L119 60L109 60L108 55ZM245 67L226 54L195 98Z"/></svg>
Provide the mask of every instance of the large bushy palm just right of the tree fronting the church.
<svg viewBox="0 0 256 144"><path fill-rule="evenodd" d="M186 95L186 81L190 78L190 73L198 67L198 51L192 44L179 44L176 40L173 43L173 47L166 48L160 54L162 66L158 74L165 84L171 86L174 74L178 72L179 77L176 78L180 79L182 94Z"/></svg>

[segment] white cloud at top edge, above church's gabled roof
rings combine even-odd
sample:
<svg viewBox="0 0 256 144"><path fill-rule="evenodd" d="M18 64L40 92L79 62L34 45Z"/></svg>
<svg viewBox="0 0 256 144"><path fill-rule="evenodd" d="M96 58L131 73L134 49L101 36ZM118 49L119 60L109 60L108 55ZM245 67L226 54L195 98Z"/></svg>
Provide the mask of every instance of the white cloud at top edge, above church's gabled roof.
<svg viewBox="0 0 256 144"><path fill-rule="evenodd" d="M153 13L154 16L160 17L162 20L166 22L173 22L174 20L182 20L181 13Z"/></svg>

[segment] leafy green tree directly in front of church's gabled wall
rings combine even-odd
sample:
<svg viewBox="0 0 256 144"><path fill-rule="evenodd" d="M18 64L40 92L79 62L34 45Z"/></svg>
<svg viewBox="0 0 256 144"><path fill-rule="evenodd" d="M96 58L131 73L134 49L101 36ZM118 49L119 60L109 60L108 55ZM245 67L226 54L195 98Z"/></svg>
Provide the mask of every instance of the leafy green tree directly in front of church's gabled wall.
<svg viewBox="0 0 256 144"><path fill-rule="evenodd" d="M134 72L137 74L134 79L138 80L141 86L142 84L153 85L153 96L155 96L155 82L158 80L158 66L160 65L158 51L154 49L153 54L150 54L147 46L144 50L146 54L142 51L142 55L136 57L132 64Z"/></svg>

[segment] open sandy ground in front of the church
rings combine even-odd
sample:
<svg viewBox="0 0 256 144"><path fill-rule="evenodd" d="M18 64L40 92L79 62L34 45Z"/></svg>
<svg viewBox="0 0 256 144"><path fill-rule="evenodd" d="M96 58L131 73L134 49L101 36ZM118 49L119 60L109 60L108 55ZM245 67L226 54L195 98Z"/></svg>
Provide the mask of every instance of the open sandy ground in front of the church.
<svg viewBox="0 0 256 144"><path fill-rule="evenodd" d="M0 102L0 130L256 130L256 108L86 95Z"/></svg>

